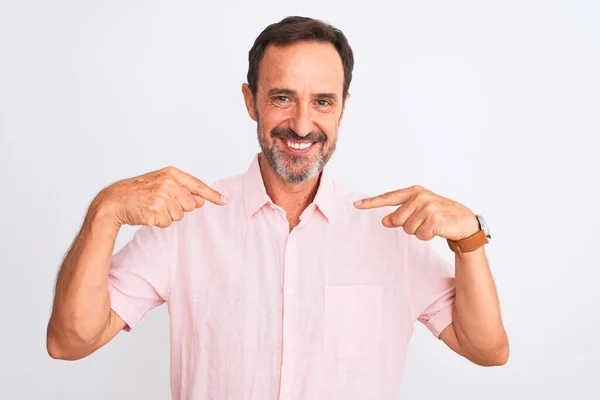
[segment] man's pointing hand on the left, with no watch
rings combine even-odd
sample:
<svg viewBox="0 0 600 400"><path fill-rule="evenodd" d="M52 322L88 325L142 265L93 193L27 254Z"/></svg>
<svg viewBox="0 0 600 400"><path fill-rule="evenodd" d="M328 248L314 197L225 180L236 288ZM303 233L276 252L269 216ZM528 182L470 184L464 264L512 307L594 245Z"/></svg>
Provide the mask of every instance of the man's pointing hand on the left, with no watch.
<svg viewBox="0 0 600 400"><path fill-rule="evenodd" d="M94 199L110 209L118 225L148 225L165 228L183 219L184 213L202 207L208 200L225 205L227 199L201 180L175 167L113 183Z"/></svg>

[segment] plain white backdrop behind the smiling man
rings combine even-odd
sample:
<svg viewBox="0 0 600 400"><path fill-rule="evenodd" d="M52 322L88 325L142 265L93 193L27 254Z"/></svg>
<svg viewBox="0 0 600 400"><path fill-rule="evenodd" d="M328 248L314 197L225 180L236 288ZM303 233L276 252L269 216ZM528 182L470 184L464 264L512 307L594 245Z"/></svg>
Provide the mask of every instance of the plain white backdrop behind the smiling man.
<svg viewBox="0 0 600 400"><path fill-rule="evenodd" d="M334 177L373 195L420 184L492 230L508 364L473 365L417 324L399 398L600 398L598 4L0 1L0 398L169 398L166 307L52 360L55 276L106 185L246 170L247 53L287 15L334 24L355 52Z"/></svg>

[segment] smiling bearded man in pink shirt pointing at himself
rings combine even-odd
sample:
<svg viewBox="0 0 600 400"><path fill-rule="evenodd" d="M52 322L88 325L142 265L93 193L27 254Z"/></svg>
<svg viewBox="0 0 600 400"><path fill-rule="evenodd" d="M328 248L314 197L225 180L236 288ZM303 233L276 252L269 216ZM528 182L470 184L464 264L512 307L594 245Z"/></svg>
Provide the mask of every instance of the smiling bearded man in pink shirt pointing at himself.
<svg viewBox="0 0 600 400"><path fill-rule="evenodd" d="M504 364L483 219L418 186L365 198L327 176L353 63L323 22L267 27L242 86L261 152L212 187L167 167L100 191L59 272L49 354L86 357L166 302L174 399L393 399L417 320ZM142 227L113 255L126 224Z"/></svg>

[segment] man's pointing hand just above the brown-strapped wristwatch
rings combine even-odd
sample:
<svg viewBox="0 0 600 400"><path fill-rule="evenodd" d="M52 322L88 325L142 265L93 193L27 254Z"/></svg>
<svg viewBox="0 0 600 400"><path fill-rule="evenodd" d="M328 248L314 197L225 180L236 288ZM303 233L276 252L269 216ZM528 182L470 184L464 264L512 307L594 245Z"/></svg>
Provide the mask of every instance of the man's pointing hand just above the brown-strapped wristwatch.
<svg viewBox="0 0 600 400"><path fill-rule="evenodd" d="M421 240L431 240L434 236L460 240L479 231L479 222L471 210L420 186L359 200L354 205L359 209L400 205L383 218L383 225L401 226Z"/></svg>

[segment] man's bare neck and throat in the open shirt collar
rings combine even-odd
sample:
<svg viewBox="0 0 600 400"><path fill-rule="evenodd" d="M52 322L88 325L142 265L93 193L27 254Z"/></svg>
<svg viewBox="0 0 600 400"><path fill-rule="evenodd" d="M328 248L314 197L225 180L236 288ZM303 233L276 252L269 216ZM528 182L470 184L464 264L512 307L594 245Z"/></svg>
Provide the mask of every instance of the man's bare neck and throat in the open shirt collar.
<svg viewBox="0 0 600 400"><path fill-rule="evenodd" d="M300 214L314 200L319 188L320 174L307 182L291 183L282 179L268 161L259 155L260 172L271 200L285 210L290 229L300 222Z"/></svg>

